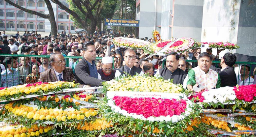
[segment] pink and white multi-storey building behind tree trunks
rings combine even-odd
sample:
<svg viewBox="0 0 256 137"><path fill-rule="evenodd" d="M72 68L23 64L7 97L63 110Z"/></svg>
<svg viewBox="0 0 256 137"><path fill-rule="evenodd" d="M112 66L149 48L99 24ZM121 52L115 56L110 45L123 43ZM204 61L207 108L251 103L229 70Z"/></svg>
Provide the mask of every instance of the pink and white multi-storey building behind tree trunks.
<svg viewBox="0 0 256 137"><path fill-rule="evenodd" d="M22 6L23 8L37 11L42 14L49 14L48 8L44 0L11 0L12 2ZM69 6L66 0L61 1L65 6ZM73 21L69 19L69 14L61 10L58 5L51 2L58 32L66 29L66 33L75 33L76 27ZM0 0L0 30L6 31L38 31L51 32L51 24L48 19L40 16L23 12L18 8L10 5L4 0Z"/></svg>

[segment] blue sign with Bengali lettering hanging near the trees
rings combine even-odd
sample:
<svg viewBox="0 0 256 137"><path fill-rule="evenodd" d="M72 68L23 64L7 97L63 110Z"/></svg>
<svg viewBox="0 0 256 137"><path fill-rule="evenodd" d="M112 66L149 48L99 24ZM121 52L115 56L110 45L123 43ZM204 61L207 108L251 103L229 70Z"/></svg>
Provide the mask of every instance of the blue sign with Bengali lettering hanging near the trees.
<svg viewBox="0 0 256 137"><path fill-rule="evenodd" d="M139 20L105 18L107 26L139 27Z"/></svg>

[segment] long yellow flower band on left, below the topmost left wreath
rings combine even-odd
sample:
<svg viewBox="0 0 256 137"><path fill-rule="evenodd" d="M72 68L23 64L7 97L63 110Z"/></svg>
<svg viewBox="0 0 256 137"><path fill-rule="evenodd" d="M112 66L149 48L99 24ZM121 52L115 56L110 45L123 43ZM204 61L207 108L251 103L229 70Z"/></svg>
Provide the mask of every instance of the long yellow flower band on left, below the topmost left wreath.
<svg viewBox="0 0 256 137"><path fill-rule="evenodd" d="M47 109L47 108L41 108L40 110L37 110L37 108L20 105L12 107L12 104L5 105L5 109L8 109L9 112L12 112L16 116L22 116L27 117L28 119L34 119L34 120L47 120L47 121L53 121L57 120L59 121L66 121L66 119L76 119L76 120L83 120L85 117L95 116L97 115L97 110L94 109L86 109L81 108L80 111L63 111L62 109Z"/></svg>

